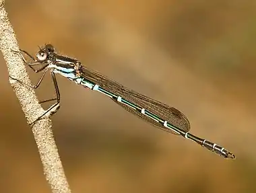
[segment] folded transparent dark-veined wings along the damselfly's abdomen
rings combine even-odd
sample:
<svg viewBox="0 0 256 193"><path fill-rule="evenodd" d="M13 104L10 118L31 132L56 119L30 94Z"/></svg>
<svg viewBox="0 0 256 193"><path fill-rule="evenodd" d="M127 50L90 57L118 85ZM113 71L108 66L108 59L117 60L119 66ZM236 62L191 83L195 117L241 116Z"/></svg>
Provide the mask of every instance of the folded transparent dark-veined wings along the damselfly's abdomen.
<svg viewBox="0 0 256 193"><path fill-rule="evenodd" d="M177 126L185 132L188 132L190 130L189 120L182 112L180 112L176 108L172 108L170 106L167 106L166 104L162 104L161 102L152 100L151 98L148 98L145 95L141 95L136 91L127 89L123 85L111 79L108 79L108 77L100 75L100 73L92 71L84 66L82 66L80 71L82 77L84 77L85 79L94 84L99 85L102 89L105 89L110 93L114 93L115 95L121 96L121 98L124 98L125 100L148 110L152 114L158 116L159 118L162 118L163 120L166 120L170 124ZM114 102L116 102L119 106L125 108L125 110L127 110L128 112L131 112L132 114L138 116L146 122L149 122L150 124L153 124L154 126L161 128L162 130L166 130L168 132L172 132L173 134L177 134L177 132L173 132L172 130L165 128L162 123L156 122L156 120L153 120L152 118L149 118L144 114L141 114L139 110L135 110L125 104L122 104L121 102L117 102L116 98L111 99Z"/></svg>

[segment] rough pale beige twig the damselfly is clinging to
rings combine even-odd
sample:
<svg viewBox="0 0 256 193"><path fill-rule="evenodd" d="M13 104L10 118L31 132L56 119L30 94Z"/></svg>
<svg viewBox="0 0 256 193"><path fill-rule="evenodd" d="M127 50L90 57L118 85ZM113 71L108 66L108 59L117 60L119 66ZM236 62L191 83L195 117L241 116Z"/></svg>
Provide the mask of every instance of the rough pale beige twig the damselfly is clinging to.
<svg viewBox="0 0 256 193"><path fill-rule="evenodd" d="M12 50L19 50L18 42L15 38L13 28L7 17L5 11L4 1L0 0L0 49L3 52L3 58L7 63L7 68L10 77L15 77L22 80L22 82L31 85L28 74L26 73L26 67L23 64L22 59L18 54L15 54ZM9 79L11 86L13 87L15 94L22 106L22 110L28 120L32 122L40 116L44 110L38 104L38 100L34 93L34 90L30 87L21 85L18 81ZM65 173L59 158L57 146L53 138L53 132L51 129L51 120L49 117L39 120L32 125L32 132L38 151L40 153L40 159L42 161L44 175L47 182L50 184L52 192L63 193L71 192Z"/></svg>

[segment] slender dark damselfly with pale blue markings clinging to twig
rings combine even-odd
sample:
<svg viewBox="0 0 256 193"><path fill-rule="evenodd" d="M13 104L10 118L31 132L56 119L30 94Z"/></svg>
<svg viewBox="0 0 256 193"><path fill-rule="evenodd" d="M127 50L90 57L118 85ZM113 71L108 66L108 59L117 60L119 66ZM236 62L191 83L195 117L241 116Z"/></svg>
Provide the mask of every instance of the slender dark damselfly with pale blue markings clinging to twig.
<svg viewBox="0 0 256 193"><path fill-rule="evenodd" d="M56 103L46 110L44 114L38 117L34 122L59 106L60 93L55 77L55 73L59 73L60 75L63 75L63 77L67 77L69 80L79 85L103 93L111 100L125 108L125 110L128 112L135 114L139 118L153 124L158 128L161 128L162 130L166 130L167 132L171 132L173 134L180 134L182 137L185 137L185 139L195 141L202 147L205 147L206 149L209 149L222 157L228 159L235 158L234 154L224 149L224 147L190 134L189 120L176 108L172 108L166 104L152 100L145 95L141 95L140 93L137 93L131 89L127 89L123 85L112 81L103 75L100 75L100 73L82 66L79 61L57 54L51 44L46 44L43 48L40 48L36 54L36 59L34 59L25 50L20 50L20 52L17 53L20 54L24 63L26 63L26 65L28 65L28 67L30 67L34 72L38 73L43 71L42 77L40 77L38 83L30 87L34 89L38 88L42 82L42 79L44 78L44 75L49 70L51 71L51 77L55 86L56 98L45 100L43 102L56 101ZM30 57L32 62L27 62L22 53ZM42 65L42 67L36 70L34 69L34 66L36 65ZM13 77L11 78L15 79ZM18 79L15 80L22 83L22 81ZM32 122L32 124L34 122Z"/></svg>

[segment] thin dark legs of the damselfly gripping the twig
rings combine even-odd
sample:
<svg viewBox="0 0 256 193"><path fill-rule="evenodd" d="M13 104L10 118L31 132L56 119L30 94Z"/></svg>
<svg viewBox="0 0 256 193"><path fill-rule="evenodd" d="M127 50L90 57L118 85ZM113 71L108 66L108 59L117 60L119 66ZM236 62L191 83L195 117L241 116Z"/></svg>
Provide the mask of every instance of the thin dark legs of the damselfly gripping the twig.
<svg viewBox="0 0 256 193"><path fill-rule="evenodd" d="M32 89L37 89L40 84L42 83L42 79L44 79L44 76L46 75L46 72L49 71L49 69L47 68L47 64L44 64L44 63L39 63L38 61L36 61L30 54L28 54L28 52L26 52L25 50L20 50L20 52L18 51L15 51L13 50L13 52L15 52L16 54L18 54L19 56L21 56L22 58L22 61L24 61L24 63L30 67L30 69L32 69L35 73L39 73L41 71L43 71L42 73L42 76L40 77L40 79L38 80L38 82L36 83L36 85L28 85L27 83L24 83L22 81L20 81L19 79L16 79L14 77L10 77L11 79L15 80L15 81L18 81L19 83L23 84L23 85L26 85L28 87L31 87ZM32 62L28 62L26 61L24 55L21 53L23 52L24 54L26 54L31 60ZM43 67L40 67L40 69L34 69L33 66L36 66L36 65L43 65ZM56 80L56 77L55 77L55 73L53 73L53 71L51 71L51 77L52 77L52 80L53 80L53 84L54 84L54 87L55 87L55 93L56 93L56 98L52 98L52 99L49 99L49 100L43 100L43 101L40 101L39 103L42 104L42 103L45 103L45 102L51 102L51 101L56 101L55 104L53 104L50 108L48 108L47 110L45 110L45 112L40 115L38 118L36 118L36 120L34 120L33 122L30 123L31 124L34 124L36 121L40 120L40 118L42 118L42 116L46 115L47 113L50 112L50 115L53 115L57 112L57 110L59 110L60 106L59 106L59 103L60 103L60 100L61 100L61 95L59 93L59 87L58 87L58 84L57 84L57 80ZM57 107L58 106L58 107ZM57 107L57 108L56 108ZM55 110L53 110L55 109Z"/></svg>

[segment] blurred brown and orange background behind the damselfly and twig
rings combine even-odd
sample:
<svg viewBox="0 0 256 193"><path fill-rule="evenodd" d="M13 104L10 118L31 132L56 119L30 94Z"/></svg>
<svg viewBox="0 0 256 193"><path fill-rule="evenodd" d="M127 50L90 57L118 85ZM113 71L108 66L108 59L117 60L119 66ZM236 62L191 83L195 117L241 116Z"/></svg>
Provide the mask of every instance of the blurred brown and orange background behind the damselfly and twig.
<svg viewBox="0 0 256 193"><path fill-rule="evenodd" d="M255 1L6 1L20 48L55 45L90 69L187 115L225 160L57 77L53 128L73 192L256 192ZM0 65L0 192L51 192ZM36 82L38 75L28 69ZM54 96L50 76L38 98Z"/></svg>

